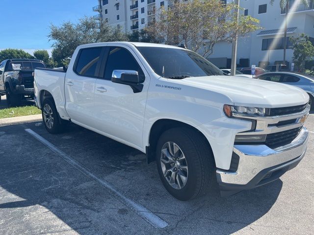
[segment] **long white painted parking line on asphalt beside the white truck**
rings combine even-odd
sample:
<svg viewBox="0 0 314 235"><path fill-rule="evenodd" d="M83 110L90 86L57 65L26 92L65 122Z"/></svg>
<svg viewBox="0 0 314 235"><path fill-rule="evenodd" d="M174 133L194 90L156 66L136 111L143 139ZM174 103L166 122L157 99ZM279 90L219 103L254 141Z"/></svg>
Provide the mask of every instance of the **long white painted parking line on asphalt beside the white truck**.
<svg viewBox="0 0 314 235"><path fill-rule="evenodd" d="M168 223L161 218L159 218L156 214L154 214L152 211L149 211L145 207L143 207L140 204L137 204L133 200L127 198L124 196L121 192L119 192L117 189L115 189L111 184L109 184L107 181L102 180L98 178L93 172L85 168L82 164L78 163L76 160L72 159L70 156L68 156L66 153L64 153L62 150L58 149L56 146L54 146L51 142L47 141L40 135L38 135L36 132L32 131L31 129L25 129L26 132L28 132L30 135L35 137L38 141L45 144L48 148L50 148L53 152L58 154L63 160L77 168L79 171L84 173L85 175L91 177L92 179L96 180L98 183L100 183L105 188L110 189L112 192L114 192L116 195L118 195L121 199L124 200L127 206L131 207L136 213L138 213L143 219L145 219L147 222L149 222L151 225L153 225L156 228L165 228L168 226Z"/></svg>

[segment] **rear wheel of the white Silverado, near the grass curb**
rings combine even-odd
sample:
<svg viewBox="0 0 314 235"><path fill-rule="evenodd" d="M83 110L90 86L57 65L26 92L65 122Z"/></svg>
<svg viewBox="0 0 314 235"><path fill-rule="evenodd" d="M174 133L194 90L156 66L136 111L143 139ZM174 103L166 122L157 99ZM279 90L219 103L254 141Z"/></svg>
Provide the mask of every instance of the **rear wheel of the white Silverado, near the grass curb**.
<svg viewBox="0 0 314 235"><path fill-rule="evenodd" d="M61 120L57 112L57 109L55 108L54 101L51 98L44 99L41 113L43 117L44 126L46 127L49 133L59 134L64 131L65 122Z"/></svg>

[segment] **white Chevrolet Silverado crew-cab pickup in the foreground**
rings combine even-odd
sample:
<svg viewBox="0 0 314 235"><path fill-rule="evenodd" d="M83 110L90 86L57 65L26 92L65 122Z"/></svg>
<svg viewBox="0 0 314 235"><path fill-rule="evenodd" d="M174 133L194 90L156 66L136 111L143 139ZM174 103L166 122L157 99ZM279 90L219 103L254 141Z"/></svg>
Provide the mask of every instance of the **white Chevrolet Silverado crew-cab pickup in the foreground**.
<svg viewBox="0 0 314 235"><path fill-rule="evenodd" d="M146 153L180 200L204 194L215 182L228 196L274 181L307 149L306 92L230 79L180 47L82 45L66 72L36 69L34 76L36 104L50 133L71 121Z"/></svg>

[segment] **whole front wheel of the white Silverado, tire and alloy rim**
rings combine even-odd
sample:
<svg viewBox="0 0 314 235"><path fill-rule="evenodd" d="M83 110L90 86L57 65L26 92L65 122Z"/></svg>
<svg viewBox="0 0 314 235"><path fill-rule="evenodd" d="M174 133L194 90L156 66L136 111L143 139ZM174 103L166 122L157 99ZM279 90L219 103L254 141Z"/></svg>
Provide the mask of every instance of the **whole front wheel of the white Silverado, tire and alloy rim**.
<svg viewBox="0 0 314 235"><path fill-rule="evenodd" d="M214 181L214 160L208 142L189 128L165 131L157 143L157 169L164 187L186 201L204 194Z"/></svg>

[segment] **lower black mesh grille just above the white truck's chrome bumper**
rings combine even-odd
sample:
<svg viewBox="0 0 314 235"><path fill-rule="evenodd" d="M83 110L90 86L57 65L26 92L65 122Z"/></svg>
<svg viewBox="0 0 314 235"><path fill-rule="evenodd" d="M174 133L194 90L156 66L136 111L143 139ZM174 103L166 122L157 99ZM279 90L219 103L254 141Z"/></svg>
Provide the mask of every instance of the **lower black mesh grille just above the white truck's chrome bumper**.
<svg viewBox="0 0 314 235"><path fill-rule="evenodd" d="M291 143L300 133L301 127L282 131L277 133L268 134L266 136L265 144L270 148L276 148Z"/></svg>

